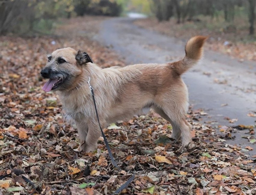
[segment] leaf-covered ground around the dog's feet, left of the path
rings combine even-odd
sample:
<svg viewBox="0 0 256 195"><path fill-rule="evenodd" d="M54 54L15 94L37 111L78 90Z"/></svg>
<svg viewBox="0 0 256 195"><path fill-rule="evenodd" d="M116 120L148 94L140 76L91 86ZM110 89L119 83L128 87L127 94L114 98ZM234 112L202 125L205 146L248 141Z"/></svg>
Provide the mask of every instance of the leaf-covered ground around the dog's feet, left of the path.
<svg viewBox="0 0 256 195"><path fill-rule="evenodd" d="M63 121L56 94L41 90L39 73L46 54L60 47L82 48L104 68L125 66L91 39L104 19L63 20L49 36L0 37L0 175L10 174L0 180L0 194L111 194L130 178L129 170L135 179L123 194L254 194L256 156L244 153L253 148L226 143L241 129L254 143L253 126L202 124L202 110L187 114L195 147L183 153L170 139L170 124L153 112L104 129L126 171L111 164L102 138L96 151L78 151L77 130Z"/></svg>

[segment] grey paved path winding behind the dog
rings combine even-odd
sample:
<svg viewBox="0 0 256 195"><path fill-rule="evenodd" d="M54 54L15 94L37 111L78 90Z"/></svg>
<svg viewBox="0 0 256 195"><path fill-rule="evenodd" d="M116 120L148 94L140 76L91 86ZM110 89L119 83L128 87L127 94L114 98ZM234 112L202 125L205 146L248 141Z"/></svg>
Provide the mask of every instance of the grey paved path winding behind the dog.
<svg viewBox="0 0 256 195"><path fill-rule="evenodd" d="M104 21L96 39L125 57L127 64L165 63L184 56L187 40L142 29L135 26L133 20L114 18ZM209 114L205 121L228 126L255 124L256 118L247 114L256 111L256 62L241 63L229 56L205 51L203 61L186 72L183 78L188 86L190 105ZM227 106L221 106L224 104ZM231 124L224 117L237 118L238 121ZM238 131L234 134L236 139L229 143L242 147L250 145L254 148L250 154L255 154L256 145L241 138L248 136L245 132L248 130Z"/></svg>

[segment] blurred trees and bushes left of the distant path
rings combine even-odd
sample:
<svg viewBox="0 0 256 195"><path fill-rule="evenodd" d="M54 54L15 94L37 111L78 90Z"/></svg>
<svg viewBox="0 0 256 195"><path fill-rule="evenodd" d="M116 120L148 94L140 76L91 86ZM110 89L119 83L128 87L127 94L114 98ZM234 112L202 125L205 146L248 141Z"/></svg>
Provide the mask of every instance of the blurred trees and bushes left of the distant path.
<svg viewBox="0 0 256 195"><path fill-rule="evenodd" d="M121 1L114 0L0 0L0 34L51 29L57 18L119 16Z"/></svg>

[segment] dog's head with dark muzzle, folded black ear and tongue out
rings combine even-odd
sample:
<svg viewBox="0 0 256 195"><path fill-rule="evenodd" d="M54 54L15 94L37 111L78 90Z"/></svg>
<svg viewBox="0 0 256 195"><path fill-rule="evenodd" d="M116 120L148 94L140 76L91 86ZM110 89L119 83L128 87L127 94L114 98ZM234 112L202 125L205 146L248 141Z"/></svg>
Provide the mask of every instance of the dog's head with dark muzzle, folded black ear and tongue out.
<svg viewBox="0 0 256 195"><path fill-rule="evenodd" d="M93 63L86 52L70 47L55 50L47 58L48 62L41 70L42 77L49 79L42 88L46 92L74 88L78 76L83 71L82 66L88 62Z"/></svg>

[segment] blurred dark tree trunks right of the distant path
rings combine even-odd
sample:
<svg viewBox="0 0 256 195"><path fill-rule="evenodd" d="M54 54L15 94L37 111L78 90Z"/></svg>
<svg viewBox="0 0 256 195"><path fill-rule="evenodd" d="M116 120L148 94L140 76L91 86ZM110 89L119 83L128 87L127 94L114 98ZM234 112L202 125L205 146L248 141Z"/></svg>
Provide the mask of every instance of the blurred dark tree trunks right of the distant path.
<svg viewBox="0 0 256 195"><path fill-rule="evenodd" d="M151 10L158 21L174 16L177 23L200 22L200 16L223 17L233 24L235 16L248 17L249 34L254 34L256 0L152 0Z"/></svg>

